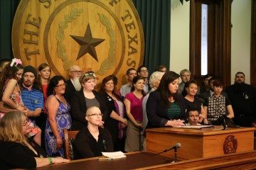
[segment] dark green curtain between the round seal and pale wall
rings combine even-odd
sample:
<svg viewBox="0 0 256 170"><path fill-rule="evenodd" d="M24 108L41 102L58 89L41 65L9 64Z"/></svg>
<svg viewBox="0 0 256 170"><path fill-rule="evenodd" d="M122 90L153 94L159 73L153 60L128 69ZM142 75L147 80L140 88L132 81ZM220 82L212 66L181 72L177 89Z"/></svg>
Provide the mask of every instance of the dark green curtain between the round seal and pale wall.
<svg viewBox="0 0 256 170"><path fill-rule="evenodd" d="M142 21L145 38L144 64L149 73L159 64L169 69L171 0L134 0Z"/></svg>

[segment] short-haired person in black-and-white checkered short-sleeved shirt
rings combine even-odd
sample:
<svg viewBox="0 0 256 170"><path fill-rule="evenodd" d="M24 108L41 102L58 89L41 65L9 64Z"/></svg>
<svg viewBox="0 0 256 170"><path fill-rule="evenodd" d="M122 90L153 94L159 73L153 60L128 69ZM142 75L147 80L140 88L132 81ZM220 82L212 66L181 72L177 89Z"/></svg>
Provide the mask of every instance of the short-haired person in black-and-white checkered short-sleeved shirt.
<svg viewBox="0 0 256 170"><path fill-rule="evenodd" d="M220 79L213 81L213 96L207 98L206 103L203 104L207 112L208 122L211 125L221 125L220 117L227 115L228 118L234 118L233 108L229 98L221 94L223 91L223 82Z"/></svg>

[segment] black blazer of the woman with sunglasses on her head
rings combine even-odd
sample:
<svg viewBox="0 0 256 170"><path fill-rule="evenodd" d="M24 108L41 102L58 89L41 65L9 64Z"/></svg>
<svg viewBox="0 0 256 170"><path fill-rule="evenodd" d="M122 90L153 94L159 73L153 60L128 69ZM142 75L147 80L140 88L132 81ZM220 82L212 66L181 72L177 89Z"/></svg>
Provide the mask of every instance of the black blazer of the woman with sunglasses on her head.
<svg viewBox="0 0 256 170"><path fill-rule="evenodd" d="M107 120L109 117L109 111L107 109L105 101L102 99L97 91L92 91L97 101L100 103L100 111L103 114L102 121ZM87 111L85 96L83 91L75 92L70 98L71 107L71 117L72 117L72 130L81 130L87 125L87 120L85 120L85 113Z"/></svg>

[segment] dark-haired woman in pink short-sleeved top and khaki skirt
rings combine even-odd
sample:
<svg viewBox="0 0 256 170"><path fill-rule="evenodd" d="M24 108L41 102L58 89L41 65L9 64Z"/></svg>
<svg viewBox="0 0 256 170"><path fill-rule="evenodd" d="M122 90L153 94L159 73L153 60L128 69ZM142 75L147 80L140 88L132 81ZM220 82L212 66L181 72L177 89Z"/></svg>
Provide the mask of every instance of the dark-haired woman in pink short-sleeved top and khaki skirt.
<svg viewBox="0 0 256 170"><path fill-rule="evenodd" d="M142 101L146 95L143 91L144 78L140 76L134 77L132 83L132 92L127 94L124 99L127 117L129 118L127 126L127 138L125 140L124 147L126 152L142 149Z"/></svg>

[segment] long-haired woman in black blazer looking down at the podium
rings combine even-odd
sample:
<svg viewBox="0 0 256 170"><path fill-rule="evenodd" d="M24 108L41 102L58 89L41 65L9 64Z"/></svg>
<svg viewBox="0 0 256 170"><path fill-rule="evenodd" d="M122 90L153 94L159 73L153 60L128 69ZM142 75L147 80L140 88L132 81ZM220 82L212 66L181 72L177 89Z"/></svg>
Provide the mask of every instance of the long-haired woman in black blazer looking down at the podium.
<svg viewBox="0 0 256 170"><path fill-rule="evenodd" d="M186 118L185 100L178 94L176 72L166 72L156 91L149 94L146 102L146 115L149 120L146 128L184 125Z"/></svg>

